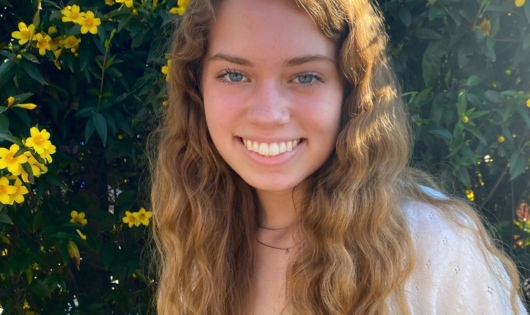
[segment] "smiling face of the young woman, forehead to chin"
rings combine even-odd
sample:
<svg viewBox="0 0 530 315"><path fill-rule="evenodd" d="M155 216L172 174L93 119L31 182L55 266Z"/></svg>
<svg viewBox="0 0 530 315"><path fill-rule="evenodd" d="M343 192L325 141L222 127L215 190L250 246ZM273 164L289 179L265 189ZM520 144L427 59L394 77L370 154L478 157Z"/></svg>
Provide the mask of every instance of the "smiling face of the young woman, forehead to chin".
<svg viewBox="0 0 530 315"><path fill-rule="evenodd" d="M258 191L288 191L329 157L343 99L336 45L282 0L225 0L209 37L206 122L223 159Z"/></svg>

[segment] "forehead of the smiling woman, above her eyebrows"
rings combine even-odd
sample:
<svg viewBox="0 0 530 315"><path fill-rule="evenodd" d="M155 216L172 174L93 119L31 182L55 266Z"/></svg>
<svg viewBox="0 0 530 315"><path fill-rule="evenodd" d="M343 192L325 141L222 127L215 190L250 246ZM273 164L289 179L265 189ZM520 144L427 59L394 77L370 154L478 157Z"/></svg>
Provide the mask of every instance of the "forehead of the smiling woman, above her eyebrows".
<svg viewBox="0 0 530 315"><path fill-rule="evenodd" d="M286 0L225 0L210 33L208 55L251 60L321 54L334 58L335 43L309 15Z"/></svg>

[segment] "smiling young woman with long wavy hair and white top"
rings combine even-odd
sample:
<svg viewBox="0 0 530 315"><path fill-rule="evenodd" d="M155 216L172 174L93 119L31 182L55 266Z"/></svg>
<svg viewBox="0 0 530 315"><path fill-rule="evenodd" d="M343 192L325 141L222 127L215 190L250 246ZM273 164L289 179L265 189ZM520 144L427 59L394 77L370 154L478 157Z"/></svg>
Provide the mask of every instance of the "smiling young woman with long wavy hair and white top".
<svg viewBox="0 0 530 315"><path fill-rule="evenodd" d="M476 213L408 166L369 0L191 1L156 133L159 314L523 314Z"/></svg>

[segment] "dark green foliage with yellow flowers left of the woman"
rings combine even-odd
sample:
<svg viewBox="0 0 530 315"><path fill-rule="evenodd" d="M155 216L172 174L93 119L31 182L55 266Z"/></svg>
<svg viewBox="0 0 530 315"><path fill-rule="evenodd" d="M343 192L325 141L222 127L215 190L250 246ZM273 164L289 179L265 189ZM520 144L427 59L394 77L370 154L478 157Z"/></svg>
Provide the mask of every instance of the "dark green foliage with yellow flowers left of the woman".
<svg viewBox="0 0 530 315"><path fill-rule="evenodd" d="M36 159L19 163L21 203L0 191L3 314L145 314L144 148L177 3L0 2L0 147ZM31 127L50 133L50 160L30 147ZM0 186L14 174L0 172Z"/></svg>

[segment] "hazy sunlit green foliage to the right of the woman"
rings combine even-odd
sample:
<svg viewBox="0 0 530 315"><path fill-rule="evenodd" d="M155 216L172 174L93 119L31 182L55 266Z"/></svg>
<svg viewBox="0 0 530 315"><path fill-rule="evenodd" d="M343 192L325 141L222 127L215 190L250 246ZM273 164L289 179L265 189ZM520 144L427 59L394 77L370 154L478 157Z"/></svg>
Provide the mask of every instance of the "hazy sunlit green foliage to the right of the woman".
<svg viewBox="0 0 530 315"><path fill-rule="evenodd" d="M528 276L530 1L380 4L412 115L415 165L473 200Z"/></svg>

